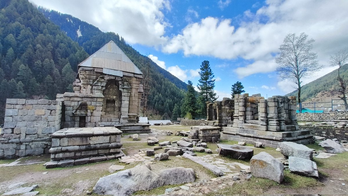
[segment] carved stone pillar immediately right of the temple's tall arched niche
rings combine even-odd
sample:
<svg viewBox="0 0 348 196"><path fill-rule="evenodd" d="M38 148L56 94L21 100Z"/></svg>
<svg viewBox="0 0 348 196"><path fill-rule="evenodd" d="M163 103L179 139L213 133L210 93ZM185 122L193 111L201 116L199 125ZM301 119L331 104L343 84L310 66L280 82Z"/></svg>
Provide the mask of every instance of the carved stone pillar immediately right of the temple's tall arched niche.
<svg viewBox="0 0 348 196"><path fill-rule="evenodd" d="M129 96L131 87L126 80L123 80L119 82L119 88L122 92L120 124L128 124Z"/></svg>

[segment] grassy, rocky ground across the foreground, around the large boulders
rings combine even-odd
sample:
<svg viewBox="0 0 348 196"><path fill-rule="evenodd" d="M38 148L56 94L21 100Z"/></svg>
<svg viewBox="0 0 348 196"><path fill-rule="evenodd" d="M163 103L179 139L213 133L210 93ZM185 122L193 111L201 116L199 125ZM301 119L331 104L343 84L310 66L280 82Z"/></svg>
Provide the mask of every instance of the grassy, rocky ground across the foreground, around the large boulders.
<svg viewBox="0 0 348 196"><path fill-rule="evenodd" d="M165 161L154 161L154 156L146 156L144 150L149 148L147 145L148 137L157 137L161 141L180 140L181 136L167 136L166 131L188 131L189 126L165 125L151 126L151 134L140 134L139 140L134 141L128 135L124 135L123 152L129 158L134 160L129 163L122 163L119 160L110 160L100 163L73 166L69 168L46 169L42 162L49 161L49 155L23 157L20 160L0 160L0 194L18 187L30 187L38 184L35 191L43 195L77 195L87 194L92 190L100 177L109 175L111 165L122 166L121 170L130 169L138 164L151 165L154 172L159 170L183 166L192 168L196 173L196 180L191 183L181 185L167 185L150 191L138 191L135 194L165 194L165 195L236 195L236 194L322 194L322 195L347 195L348 185L348 152L340 153L329 158L314 158L318 165L319 180L302 177L292 174L285 170L285 180L278 185L276 182L251 177L249 171L250 163L217 155L215 149L216 143L208 143L207 148L211 149L213 154L196 153L197 157L209 164L215 165L221 169L225 175L215 176L211 171L203 168L201 165L188 160L182 156L170 156ZM233 141L221 141L222 144L235 144ZM317 151L323 150L322 147L309 145ZM262 151L269 153L279 160L283 158L280 152L273 148L253 148L254 155ZM155 153L162 153L164 149L158 149ZM6 166L16 162L15 166ZM285 160L284 160L285 161ZM117 171L111 171L117 172Z"/></svg>

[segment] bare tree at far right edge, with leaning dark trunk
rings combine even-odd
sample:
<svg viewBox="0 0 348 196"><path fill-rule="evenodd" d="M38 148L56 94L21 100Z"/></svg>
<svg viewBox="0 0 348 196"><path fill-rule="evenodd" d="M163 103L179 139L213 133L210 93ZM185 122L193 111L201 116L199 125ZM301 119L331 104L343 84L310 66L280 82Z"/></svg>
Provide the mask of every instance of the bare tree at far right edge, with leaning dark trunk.
<svg viewBox="0 0 348 196"><path fill-rule="evenodd" d="M338 96L339 98L343 99L345 101L345 107L347 109L347 97L346 97L346 88L347 88L347 80L344 80L340 76L340 69L343 65L346 64L348 61L348 48L345 48L343 50L340 50L337 52L335 55L331 56L330 55L330 60L329 60L329 65L330 66L337 66L338 65L338 76L337 80L340 83L341 89L339 90L340 93L342 93L342 97Z"/></svg>

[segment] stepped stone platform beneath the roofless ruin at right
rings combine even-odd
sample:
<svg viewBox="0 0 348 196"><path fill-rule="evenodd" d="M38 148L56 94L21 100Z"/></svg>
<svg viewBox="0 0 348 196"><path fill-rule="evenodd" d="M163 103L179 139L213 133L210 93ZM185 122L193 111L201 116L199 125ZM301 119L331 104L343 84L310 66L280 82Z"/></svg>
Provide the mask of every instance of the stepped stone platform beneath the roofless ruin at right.
<svg viewBox="0 0 348 196"><path fill-rule="evenodd" d="M235 128L228 125L223 128L221 139L242 141L248 144L254 144L255 141L262 142L263 146L278 148L279 142L292 141L298 144L314 144L313 135L309 130L296 131L263 131L253 129Z"/></svg>

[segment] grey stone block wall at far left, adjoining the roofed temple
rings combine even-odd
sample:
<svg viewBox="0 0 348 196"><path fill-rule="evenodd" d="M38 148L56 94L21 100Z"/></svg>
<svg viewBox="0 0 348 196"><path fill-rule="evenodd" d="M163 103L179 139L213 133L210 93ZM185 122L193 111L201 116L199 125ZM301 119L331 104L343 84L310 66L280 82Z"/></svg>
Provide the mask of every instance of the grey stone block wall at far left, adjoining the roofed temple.
<svg viewBox="0 0 348 196"><path fill-rule="evenodd" d="M61 126L58 100L7 99L0 133L0 158L48 153L52 133Z"/></svg>

